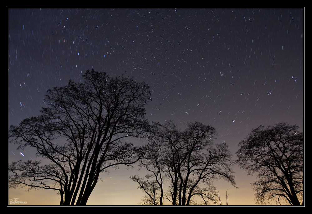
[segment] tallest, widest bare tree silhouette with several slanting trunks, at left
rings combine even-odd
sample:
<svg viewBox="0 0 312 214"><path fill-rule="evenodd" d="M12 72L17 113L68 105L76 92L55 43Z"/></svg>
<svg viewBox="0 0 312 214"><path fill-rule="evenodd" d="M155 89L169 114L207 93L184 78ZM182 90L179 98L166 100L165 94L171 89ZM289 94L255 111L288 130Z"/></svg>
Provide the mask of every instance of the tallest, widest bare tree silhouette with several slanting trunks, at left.
<svg viewBox="0 0 312 214"><path fill-rule="evenodd" d="M10 142L19 149L36 148L37 156L50 163L12 162L9 187L57 190L61 205L85 205L101 172L139 160L140 150L120 139L146 135L149 86L93 69L83 77L84 83L70 80L65 87L48 90L49 107L41 115L10 126Z"/></svg>

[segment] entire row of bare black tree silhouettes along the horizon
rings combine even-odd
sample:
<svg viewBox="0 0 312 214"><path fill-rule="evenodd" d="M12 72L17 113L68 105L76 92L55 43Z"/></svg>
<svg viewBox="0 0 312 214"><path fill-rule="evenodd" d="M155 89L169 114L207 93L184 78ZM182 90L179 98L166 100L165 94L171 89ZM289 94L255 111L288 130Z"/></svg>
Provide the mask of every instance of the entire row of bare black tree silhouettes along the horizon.
<svg viewBox="0 0 312 214"><path fill-rule="evenodd" d="M223 178L235 186L231 153L213 143L213 127L194 122L181 131L172 121L149 124L144 106L151 92L144 82L93 69L83 77L83 83L70 80L48 90L41 115L9 127L9 142L34 147L49 161L10 163L10 188L51 189L59 192L60 205L86 205L101 172L136 162L149 172L131 177L146 194L143 205L216 205L212 182ZM121 142L125 137L149 144L134 147ZM260 126L239 146L236 163L258 174L252 184L257 203L304 205L304 137L297 126Z"/></svg>

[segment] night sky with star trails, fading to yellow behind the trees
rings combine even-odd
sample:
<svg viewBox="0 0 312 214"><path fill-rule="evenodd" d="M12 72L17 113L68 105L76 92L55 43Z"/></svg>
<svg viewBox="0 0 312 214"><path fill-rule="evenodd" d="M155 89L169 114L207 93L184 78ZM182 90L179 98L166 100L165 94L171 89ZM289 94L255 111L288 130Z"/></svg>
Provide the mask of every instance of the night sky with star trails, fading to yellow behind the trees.
<svg viewBox="0 0 312 214"><path fill-rule="evenodd" d="M88 69L146 82L149 121L215 127L233 154L252 129L288 122L304 130L304 8L8 8L7 122L37 116L49 88ZM134 145L144 142L129 139ZM8 162L36 159L8 145ZM225 204L255 205L247 176L215 182ZM87 205L137 205L137 167L102 174ZM8 189L27 205L58 205L54 191ZM10 200L8 200L10 203Z"/></svg>

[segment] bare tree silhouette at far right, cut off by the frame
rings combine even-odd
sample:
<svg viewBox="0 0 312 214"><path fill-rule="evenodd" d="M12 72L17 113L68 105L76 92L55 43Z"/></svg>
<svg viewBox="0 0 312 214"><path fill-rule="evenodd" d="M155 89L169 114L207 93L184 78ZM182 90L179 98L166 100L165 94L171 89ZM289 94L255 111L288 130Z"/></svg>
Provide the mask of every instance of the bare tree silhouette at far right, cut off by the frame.
<svg viewBox="0 0 312 214"><path fill-rule="evenodd" d="M298 128L287 123L260 126L239 143L237 163L258 174L252 184L257 203L304 204L304 137Z"/></svg>

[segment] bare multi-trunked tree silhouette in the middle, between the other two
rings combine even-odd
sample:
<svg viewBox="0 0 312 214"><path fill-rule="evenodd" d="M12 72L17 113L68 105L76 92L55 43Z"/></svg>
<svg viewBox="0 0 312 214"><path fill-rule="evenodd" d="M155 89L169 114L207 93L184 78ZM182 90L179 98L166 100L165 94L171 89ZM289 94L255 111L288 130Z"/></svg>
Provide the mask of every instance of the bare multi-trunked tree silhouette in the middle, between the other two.
<svg viewBox="0 0 312 214"><path fill-rule="evenodd" d="M197 205L198 198L203 204L215 204L217 195L212 181L218 178L235 186L231 154L226 144L213 144L214 136L215 129L200 122L189 123L183 132L172 121L155 128L150 136L152 152L140 163L152 174L146 176L147 180L132 177L148 195L143 204L147 204L147 199L163 202L164 178L170 183L167 197L172 205ZM150 188L150 184L158 187Z"/></svg>

